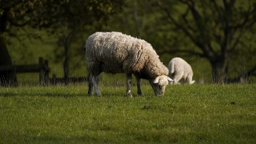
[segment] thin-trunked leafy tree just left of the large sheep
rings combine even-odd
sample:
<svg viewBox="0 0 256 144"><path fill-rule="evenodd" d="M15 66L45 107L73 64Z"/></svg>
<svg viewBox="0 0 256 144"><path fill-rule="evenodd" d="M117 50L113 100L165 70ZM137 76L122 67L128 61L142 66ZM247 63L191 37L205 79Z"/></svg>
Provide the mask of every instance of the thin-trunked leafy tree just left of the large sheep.
<svg viewBox="0 0 256 144"><path fill-rule="evenodd" d="M59 35L59 45L64 48L65 59L63 62L65 83L69 83L69 57L70 47L76 35L83 35L88 25L95 25L95 21L104 21L117 11L120 11L123 1L68 1L61 7L63 10L58 13L58 18L53 29ZM61 23L61 27L59 27ZM75 40L73 40L75 41ZM81 47L79 47L81 48Z"/></svg>

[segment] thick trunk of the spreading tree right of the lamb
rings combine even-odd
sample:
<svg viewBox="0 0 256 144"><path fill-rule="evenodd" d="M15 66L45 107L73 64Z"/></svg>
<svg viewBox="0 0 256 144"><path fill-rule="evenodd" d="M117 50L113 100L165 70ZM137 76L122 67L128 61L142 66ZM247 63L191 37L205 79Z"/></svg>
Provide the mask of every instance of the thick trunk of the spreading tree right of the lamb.
<svg viewBox="0 0 256 144"><path fill-rule="evenodd" d="M225 60L211 62L213 83L225 83L227 80L228 67Z"/></svg>

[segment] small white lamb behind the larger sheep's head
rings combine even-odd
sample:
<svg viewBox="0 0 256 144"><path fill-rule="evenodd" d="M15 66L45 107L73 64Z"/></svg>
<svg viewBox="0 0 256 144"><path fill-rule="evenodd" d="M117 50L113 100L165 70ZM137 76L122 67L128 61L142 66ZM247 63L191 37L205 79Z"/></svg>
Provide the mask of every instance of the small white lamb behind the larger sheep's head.
<svg viewBox="0 0 256 144"><path fill-rule="evenodd" d="M173 75L174 84L179 83L181 79L184 79L189 84L195 83L192 81L193 71L189 63L179 57L171 59L168 65L169 77Z"/></svg>

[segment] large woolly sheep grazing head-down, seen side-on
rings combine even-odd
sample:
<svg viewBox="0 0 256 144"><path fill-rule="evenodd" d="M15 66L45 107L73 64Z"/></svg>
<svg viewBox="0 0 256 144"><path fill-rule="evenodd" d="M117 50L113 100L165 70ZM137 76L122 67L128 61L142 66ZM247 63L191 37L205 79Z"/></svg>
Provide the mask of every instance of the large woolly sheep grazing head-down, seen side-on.
<svg viewBox="0 0 256 144"><path fill-rule="evenodd" d="M101 95L97 85L97 76L105 73L125 73L127 95L131 95L131 75L137 80L137 94L141 92L141 79L148 79L155 95L165 91L168 81L168 69L161 63L153 47L142 39L119 32L97 32L86 41L86 64L90 73L89 95L95 88L96 95Z"/></svg>

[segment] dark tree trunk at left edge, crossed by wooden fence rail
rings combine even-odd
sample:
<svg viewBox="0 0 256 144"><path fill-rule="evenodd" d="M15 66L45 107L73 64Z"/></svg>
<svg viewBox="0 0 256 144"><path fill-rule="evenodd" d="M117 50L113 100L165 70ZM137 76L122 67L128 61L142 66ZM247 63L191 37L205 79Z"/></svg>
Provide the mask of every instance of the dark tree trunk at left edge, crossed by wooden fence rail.
<svg viewBox="0 0 256 144"><path fill-rule="evenodd" d="M12 65L12 63L5 41L3 37L0 36L0 66L1 65ZM15 71L0 71L0 86L17 86Z"/></svg>

